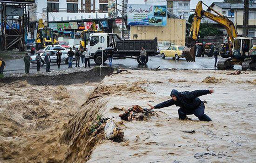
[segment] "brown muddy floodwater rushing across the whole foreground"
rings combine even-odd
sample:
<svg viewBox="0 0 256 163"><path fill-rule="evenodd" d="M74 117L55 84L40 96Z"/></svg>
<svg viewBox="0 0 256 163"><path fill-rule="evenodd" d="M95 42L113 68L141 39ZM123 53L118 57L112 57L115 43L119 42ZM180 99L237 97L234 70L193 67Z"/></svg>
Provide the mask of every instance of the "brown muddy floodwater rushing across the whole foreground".
<svg viewBox="0 0 256 163"><path fill-rule="evenodd" d="M2 83L0 162L255 162L256 72L230 72L128 70L97 82ZM176 106L154 109L140 121L119 117L133 105L170 99L172 89L214 89L200 97L212 122L193 115L179 120ZM106 139L103 121L93 125L98 117L111 118L121 142Z"/></svg>

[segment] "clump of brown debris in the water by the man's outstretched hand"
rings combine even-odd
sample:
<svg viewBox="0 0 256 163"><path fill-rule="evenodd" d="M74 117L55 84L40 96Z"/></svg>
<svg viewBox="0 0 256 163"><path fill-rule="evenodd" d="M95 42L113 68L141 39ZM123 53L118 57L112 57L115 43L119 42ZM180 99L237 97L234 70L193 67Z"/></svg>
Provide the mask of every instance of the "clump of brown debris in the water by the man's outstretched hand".
<svg viewBox="0 0 256 163"><path fill-rule="evenodd" d="M132 108L129 108L123 114L120 114L119 117L122 120L132 121L132 120L147 120L148 117L154 116L155 112L152 110L142 108L139 105L134 105Z"/></svg>

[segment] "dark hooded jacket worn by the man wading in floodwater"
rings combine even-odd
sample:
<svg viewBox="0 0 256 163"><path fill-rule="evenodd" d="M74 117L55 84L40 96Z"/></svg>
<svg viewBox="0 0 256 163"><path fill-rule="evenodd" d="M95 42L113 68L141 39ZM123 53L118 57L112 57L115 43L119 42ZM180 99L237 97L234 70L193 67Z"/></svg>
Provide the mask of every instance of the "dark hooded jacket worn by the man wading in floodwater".
<svg viewBox="0 0 256 163"><path fill-rule="evenodd" d="M196 90L196 91L184 91L178 92L177 90L172 90L171 95L175 95L177 97L177 101L174 100L167 100L165 102L159 103L155 106L156 109L160 109L163 107L168 107L171 105L176 105L181 107L183 110L194 110L199 107L202 101L198 98L199 96L209 94L209 90Z"/></svg>

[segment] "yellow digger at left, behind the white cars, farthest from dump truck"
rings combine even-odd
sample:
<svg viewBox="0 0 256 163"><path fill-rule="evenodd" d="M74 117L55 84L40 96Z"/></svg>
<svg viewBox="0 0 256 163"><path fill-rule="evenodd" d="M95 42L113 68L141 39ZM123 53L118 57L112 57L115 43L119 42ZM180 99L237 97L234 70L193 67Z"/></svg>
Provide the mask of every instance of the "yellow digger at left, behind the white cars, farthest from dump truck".
<svg viewBox="0 0 256 163"><path fill-rule="evenodd" d="M57 45L59 41L54 38L53 29L46 28L43 19L39 19L37 26L36 50L43 49L47 45Z"/></svg>

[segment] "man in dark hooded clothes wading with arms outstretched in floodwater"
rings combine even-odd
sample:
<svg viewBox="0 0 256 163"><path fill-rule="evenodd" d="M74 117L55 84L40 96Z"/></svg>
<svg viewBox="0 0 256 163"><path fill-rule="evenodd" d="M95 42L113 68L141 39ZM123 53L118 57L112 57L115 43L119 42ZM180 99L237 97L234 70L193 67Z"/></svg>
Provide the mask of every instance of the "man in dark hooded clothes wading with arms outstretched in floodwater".
<svg viewBox="0 0 256 163"><path fill-rule="evenodd" d="M171 100L159 103L156 106L149 105L150 109L160 109L171 105L179 106L178 116L179 119L186 119L187 115L194 114L199 120L211 121L210 117L204 114L204 103L198 97L202 95L212 94L214 90L196 90L196 91L184 91L178 92L177 90L171 91Z"/></svg>

